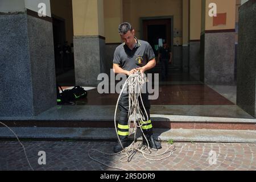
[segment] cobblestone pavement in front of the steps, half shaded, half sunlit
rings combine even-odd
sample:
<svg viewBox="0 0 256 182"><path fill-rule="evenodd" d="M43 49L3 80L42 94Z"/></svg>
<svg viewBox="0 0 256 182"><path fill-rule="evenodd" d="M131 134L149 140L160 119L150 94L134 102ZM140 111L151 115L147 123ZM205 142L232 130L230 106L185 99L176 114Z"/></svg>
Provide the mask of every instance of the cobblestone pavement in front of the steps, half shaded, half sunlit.
<svg viewBox="0 0 256 182"><path fill-rule="evenodd" d="M88 156L98 159L109 166L145 171L166 170L253 170L256 169L256 144L246 143L175 143L176 150L170 158L150 161L139 153L131 162L119 162L122 155L104 155L112 152L115 142L22 142L26 147L27 156L35 170L116 170L95 162ZM162 143L163 152L167 143ZM39 151L46 152L46 164L39 165ZM209 152L213 151L213 155ZM216 154L216 158L214 155ZM166 156L166 155L165 155ZM158 159L156 157L154 159ZM214 160L216 159L216 160ZM212 164L216 162L216 164ZM212 165L210 165L212 164ZM28 166L23 148L18 142L0 142L0 170L31 170Z"/></svg>

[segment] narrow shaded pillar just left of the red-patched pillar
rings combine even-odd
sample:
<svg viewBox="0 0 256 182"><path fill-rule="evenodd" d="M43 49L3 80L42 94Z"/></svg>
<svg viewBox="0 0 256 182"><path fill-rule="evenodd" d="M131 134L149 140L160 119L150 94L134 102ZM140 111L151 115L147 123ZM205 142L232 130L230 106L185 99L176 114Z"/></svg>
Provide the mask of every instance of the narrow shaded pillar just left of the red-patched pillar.
<svg viewBox="0 0 256 182"><path fill-rule="evenodd" d="M189 16L189 73L199 80L201 0L189 1Z"/></svg>

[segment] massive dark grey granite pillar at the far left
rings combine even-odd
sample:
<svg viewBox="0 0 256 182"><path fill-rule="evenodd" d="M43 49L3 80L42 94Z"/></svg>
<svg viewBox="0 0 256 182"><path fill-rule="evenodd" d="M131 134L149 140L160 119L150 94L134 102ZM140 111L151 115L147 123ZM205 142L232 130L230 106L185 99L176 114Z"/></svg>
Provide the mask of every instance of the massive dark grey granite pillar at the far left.
<svg viewBox="0 0 256 182"><path fill-rule="evenodd" d="M46 17L35 1L0 3L0 115L23 117L57 105L53 31L49 0Z"/></svg>

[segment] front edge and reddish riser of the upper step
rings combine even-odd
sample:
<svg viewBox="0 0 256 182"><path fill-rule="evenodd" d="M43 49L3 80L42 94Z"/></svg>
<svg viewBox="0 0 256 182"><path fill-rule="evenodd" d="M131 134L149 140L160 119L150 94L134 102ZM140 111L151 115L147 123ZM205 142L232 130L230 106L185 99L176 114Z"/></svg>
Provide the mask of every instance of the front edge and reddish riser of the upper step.
<svg viewBox="0 0 256 182"><path fill-rule="evenodd" d="M214 118L214 117L175 117L152 114L151 121L158 129L212 129L212 130L256 130L255 119ZM10 127L96 127L114 128L114 121L109 120L6 120ZM3 127L0 125L0 127Z"/></svg>

